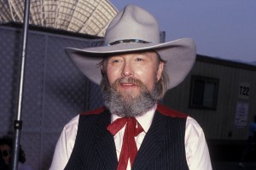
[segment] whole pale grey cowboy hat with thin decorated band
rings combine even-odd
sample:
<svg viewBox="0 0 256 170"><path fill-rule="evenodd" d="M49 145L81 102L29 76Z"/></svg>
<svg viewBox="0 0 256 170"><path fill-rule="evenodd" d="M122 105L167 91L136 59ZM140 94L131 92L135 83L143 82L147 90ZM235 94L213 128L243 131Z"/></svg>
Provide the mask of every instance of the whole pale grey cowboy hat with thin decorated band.
<svg viewBox="0 0 256 170"><path fill-rule="evenodd" d="M169 89L188 75L195 62L195 42L182 38L160 43L160 31L152 14L135 5L127 5L110 22L104 46L95 48L66 48L73 63L92 82L100 84L101 69L96 65L109 54L154 50L166 60Z"/></svg>

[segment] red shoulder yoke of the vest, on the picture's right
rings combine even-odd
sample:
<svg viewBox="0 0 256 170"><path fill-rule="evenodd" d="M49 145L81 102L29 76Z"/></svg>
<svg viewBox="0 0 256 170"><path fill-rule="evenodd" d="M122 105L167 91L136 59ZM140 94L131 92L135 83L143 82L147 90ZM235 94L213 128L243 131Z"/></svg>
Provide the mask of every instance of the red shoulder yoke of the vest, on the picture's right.
<svg viewBox="0 0 256 170"><path fill-rule="evenodd" d="M170 116L170 117L177 117L177 118L187 118L188 115L186 115L183 112L180 111L174 111L165 105L158 104L156 111L159 111L164 116Z"/></svg>

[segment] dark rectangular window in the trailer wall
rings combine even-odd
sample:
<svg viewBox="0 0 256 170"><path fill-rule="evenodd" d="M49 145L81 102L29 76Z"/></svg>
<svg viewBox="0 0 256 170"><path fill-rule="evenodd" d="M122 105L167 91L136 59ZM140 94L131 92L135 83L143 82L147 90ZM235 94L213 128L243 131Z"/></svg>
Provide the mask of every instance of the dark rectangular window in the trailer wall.
<svg viewBox="0 0 256 170"><path fill-rule="evenodd" d="M192 76L189 108L216 110L218 99L218 79Z"/></svg>

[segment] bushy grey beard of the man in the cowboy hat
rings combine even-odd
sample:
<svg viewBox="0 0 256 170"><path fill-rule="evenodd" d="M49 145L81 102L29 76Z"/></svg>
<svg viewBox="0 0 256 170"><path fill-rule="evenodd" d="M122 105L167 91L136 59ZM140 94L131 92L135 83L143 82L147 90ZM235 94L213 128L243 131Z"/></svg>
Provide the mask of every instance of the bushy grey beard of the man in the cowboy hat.
<svg viewBox="0 0 256 170"><path fill-rule="evenodd" d="M138 81L138 80L137 80ZM113 84L119 83L118 81ZM105 105L109 111L117 116L143 116L147 111L152 109L157 102L157 90L154 88L150 93L148 89L139 81L141 88L140 94L133 98L131 95L124 96L116 90L116 85L103 91Z"/></svg>

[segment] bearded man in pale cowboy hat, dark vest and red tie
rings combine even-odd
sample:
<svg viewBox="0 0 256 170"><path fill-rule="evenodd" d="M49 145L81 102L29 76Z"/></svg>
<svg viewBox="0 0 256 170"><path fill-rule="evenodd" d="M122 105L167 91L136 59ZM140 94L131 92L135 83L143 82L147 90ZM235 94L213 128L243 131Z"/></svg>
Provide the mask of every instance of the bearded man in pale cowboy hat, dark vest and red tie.
<svg viewBox="0 0 256 170"><path fill-rule="evenodd" d="M191 70L195 43L160 43L156 20L135 5L114 17L104 42L67 48L79 70L101 83L106 106L67 123L50 169L212 169L198 123L158 103Z"/></svg>

